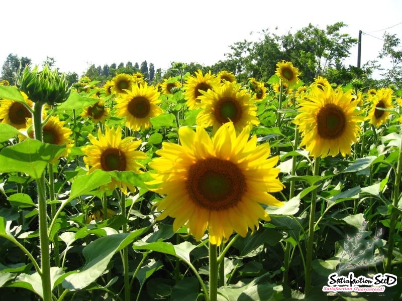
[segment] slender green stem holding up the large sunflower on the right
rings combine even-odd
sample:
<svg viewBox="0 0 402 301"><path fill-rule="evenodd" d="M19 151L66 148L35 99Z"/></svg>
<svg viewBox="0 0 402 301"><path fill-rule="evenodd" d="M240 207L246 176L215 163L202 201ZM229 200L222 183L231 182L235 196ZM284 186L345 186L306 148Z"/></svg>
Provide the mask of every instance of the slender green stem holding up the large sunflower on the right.
<svg viewBox="0 0 402 301"><path fill-rule="evenodd" d="M320 158L317 157L314 160L313 176L318 176L320 170ZM310 205L310 220L309 220L309 238L307 241L307 254L306 254L306 283L305 283L305 295L306 297L310 293L311 280L312 280L312 261L313 261L313 247L314 247L314 221L316 219L316 200L317 188L312 191L311 205Z"/></svg>

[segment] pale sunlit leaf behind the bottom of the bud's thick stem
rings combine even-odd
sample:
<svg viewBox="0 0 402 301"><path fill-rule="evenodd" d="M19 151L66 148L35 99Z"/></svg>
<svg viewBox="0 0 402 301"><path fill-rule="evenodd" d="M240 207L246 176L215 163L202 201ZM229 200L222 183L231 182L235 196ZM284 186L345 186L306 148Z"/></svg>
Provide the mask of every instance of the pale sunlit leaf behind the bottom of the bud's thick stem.
<svg viewBox="0 0 402 301"><path fill-rule="evenodd" d="M52 266L50 268L50 284L52 289L54 288L54 283L64 274L64 271L60 267ZM31 275L29 274L20 274L17 276L16 280L8 286L18 286L27 288L43 298L43 290L42 290L42 278L38 272L35 272Z"/></svg>

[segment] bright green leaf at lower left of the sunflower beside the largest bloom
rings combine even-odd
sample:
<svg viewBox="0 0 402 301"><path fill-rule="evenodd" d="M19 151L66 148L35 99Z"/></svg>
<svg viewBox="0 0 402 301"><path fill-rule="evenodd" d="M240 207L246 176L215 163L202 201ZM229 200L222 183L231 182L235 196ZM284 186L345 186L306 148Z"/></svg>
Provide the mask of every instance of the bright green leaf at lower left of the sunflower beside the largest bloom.
<svg viewBox="0 0 402 301"><path fill-rule="evenodd" d="M69 200L76 197L89 194L90 191L108 184L111 177L102 170L95 170L93 173L77 177L71 185L71 193Z"/></svg>

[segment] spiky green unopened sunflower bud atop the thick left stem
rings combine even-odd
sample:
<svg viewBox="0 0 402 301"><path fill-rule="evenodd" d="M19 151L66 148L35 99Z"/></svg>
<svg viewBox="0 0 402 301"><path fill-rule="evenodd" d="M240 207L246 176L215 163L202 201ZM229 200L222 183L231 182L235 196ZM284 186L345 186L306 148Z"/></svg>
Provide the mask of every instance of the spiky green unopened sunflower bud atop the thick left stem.
<svg viewBox="0 0 402 301"><path fill-rule="evenodd" d="M70 95L71 87L65 73L59 75L57 70L52 71L47 65L41 71L38 71L38 66L32 70L26 66L19 74L17 87L35 103L55 105L66 101Z"/></svg>

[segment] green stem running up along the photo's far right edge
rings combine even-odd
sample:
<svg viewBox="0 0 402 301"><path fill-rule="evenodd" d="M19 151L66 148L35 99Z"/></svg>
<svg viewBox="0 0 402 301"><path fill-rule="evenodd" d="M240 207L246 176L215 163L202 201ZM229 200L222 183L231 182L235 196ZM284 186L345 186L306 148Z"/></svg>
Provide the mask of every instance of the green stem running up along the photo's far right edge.
<svg viewBox="0 0 402 301"><path fill-rule="evenodd" d="M393 186L393 198L392 198L392 206L397 208L398 207L398 199L399 199L399 186L401 181L401 170L402 170L402 137L400 139L399 144L399 155L398 155L398 162L396 165L396 173L395 173L395 184ZM388 251L386 255L385 261L385 272L391 272L391 262L392 262L392 252L393 252L393 245L394 245L394 232L396 226L396 218L398 213L396 210L392 208L390 221L389 221L389 234L388 234Z"/></svg>

